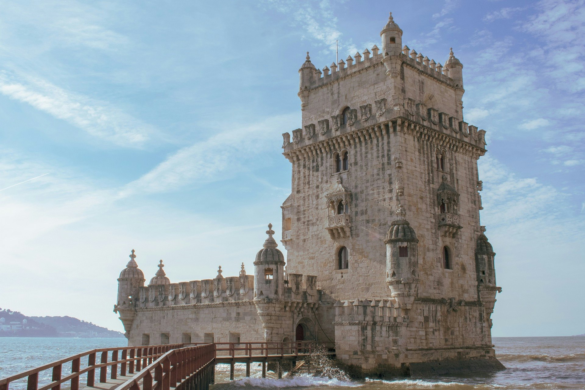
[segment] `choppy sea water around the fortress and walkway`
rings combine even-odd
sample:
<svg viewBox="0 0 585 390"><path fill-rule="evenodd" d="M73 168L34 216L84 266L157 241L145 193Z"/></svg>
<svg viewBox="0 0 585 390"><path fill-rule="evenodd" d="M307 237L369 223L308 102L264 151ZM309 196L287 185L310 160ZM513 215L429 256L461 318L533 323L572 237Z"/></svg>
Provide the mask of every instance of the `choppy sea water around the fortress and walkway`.
<svg viewBox="0 0 585 390"><path fill-rule="evenodd" d="M585 336L576 337L494 337L496 357L507 370L492 374L470 374L436 378L366 379L298 375L294 378L260 378L260 368L245 378L236 369L236 380L229 381L227 367L218 365L214 390L223 389L585 389ZM0 338L0 378L38 367L93 348L125 346L126 339ZM22 384L11 385L23 388Z"/></svg>

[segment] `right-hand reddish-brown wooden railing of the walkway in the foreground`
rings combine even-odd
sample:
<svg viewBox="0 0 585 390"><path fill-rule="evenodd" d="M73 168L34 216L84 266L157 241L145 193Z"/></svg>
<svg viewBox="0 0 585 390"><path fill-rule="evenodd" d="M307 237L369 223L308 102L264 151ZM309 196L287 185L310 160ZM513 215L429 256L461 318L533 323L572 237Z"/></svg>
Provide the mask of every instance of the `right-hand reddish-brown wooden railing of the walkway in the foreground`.
<svg viewBox="0 0 585 390"><path fill-rule="evenodd" d="M177 348L159 357L116 390L208 389L214 381L215 346Z"/></svg>

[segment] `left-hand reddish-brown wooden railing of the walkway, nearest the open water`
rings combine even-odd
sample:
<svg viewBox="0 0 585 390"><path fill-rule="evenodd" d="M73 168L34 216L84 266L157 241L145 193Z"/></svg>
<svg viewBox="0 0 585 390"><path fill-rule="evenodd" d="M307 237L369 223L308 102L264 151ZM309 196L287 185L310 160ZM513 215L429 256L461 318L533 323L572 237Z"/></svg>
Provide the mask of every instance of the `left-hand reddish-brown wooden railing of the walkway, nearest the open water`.
<svg viewBox="0 0 585 390"><path fill-rule="evenodd" d="M134 374L168 351L181 347L183 344L95 349L0 379L0 390L9 390L12 382L23 378L27 378L26 390L61 390L61 385L66 382L70 382L71 390L79 390L81 375L85 374L84 377L87 377L85 381L87 386L94 386L96 371L98 371L98 381L103 383L108 380L108 367L109 377L116 379L118 375ZM82 361L86 359L87 367L82 368ZM66 365L70 365L70 373L63 372ZM49 383L39 387L39 380L49 381Z"/></svg>

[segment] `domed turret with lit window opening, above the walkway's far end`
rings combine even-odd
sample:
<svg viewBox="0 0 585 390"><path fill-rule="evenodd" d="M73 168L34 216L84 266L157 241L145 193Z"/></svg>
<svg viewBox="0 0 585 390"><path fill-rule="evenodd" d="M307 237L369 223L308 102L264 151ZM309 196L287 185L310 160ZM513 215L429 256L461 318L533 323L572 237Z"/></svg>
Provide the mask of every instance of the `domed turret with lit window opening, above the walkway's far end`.
<svg viewBox="0 0 585 390"><path fill-rule="evenodd" d="M282 299L284 292L284 255L276 249L272 237L274 230L269 223L268 238L254 261L254 299Z"/></svg>

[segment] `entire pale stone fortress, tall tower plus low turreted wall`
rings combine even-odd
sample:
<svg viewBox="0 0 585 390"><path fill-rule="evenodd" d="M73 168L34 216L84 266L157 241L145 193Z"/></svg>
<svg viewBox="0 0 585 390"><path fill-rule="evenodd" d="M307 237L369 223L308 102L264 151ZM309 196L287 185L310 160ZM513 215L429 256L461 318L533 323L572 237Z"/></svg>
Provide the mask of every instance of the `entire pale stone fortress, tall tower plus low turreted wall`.
<svg viewBox="0 0 585 390"><path fill-rule="evenodd" d="M281 242L272 226L238 276L144 286L135 254L118 303L130 344L317 340L361 375L491 371L495 253L480 225L484 130L463 118L463 65L402 46L300 74L301 127ZM285 268L286 267L286 268Z"/></svg>

